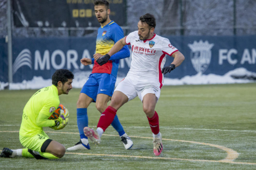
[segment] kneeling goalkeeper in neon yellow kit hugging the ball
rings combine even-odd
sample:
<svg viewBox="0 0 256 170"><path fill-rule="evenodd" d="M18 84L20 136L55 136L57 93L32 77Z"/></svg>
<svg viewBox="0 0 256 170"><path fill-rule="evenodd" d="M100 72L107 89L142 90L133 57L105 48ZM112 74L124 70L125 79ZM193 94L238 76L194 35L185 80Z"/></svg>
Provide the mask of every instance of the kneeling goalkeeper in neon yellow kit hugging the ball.
<svg viewBox="0 0 256 170"><path fill-rule="evenodd" d="M58 119L48 119L59 107L59 95L69 94L72 89L72 79L74 75L69 70L56 70L52 76L52 86L40 89L32 95L23 109L22 124L20 126L20 143L23 149L11 150L4 148L1 157L14 158L23 156L40 159L62 158L66 148L49 139L43 131L43 127L51 127L55 130L62 129L69 121L68 111L63 115L61 112Z"/></svg>

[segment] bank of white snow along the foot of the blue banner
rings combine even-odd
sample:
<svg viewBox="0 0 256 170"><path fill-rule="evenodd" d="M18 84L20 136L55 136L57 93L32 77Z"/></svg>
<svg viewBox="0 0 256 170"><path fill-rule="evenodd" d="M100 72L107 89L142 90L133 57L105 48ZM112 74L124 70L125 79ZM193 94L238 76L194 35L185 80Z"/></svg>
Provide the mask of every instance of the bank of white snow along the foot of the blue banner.
<svg viewBox="0 0 256 170"><path fill-rule="evenodd" d="M75 79L73 80L72 86L74 88L82 88L83 84L87 81L90 73L92 71L74 71ZM171 74L171 73L169 73ZM255 83L255 80L250 79L234 79L232 76L254 76L256 73L247 71L245 68L236 68L235 70L229 71L223 76L209 74L203 75L202 73L197 73L193 76L184 76L181 79L171 79L164 78L164 86L168 85L184 85L184 84L233 84L233 83ZM116 80L117 84L124 79L124 77L118 77ZM8 83L0 82L0 90L4 89ZM22 83L11 83L11 90L20 90L20 89L41 89L46 86L51 86L51 79L43 79L41 76L34 76L32 80L23 80Z"/></svg>

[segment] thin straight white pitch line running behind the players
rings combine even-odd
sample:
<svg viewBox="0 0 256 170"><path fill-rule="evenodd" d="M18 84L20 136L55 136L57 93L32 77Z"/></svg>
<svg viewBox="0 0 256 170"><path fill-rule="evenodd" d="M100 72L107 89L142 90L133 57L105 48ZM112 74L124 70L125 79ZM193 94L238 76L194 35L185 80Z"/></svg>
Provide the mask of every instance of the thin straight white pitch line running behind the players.
<svg viewBox="0 0 256 170"><path fill-rule="evenodd" d="M20 126L14 124L0 124L0 126ZM76 125L70 125L69 127L77 127ZM91 126L96 127L96 126ZM123 126L125 128L150 128L149 126ZM247 130L228 130L228 129L194 129L194 128L179 128L179 127L163 127L161 126L160 129L177 129L177 130L195 130L195 131L227 131L227 132L256 132L256 131L247 131Z"/></svg>

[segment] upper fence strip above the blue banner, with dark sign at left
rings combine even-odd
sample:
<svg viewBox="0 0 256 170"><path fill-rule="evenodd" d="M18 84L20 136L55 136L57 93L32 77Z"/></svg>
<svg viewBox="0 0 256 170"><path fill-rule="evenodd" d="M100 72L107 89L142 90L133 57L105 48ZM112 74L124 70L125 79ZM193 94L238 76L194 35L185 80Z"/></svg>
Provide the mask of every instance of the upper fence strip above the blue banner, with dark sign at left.
<svg viewBox="0 0 256 170"><path fill-rule="evenodd" d="M15 37L95 36L93 0L12 0ZM161 35L256 34L255 0L110 0L111 19L126 33L147 12ZM0 36L7 35L7 0L0 1Z"/></svg>

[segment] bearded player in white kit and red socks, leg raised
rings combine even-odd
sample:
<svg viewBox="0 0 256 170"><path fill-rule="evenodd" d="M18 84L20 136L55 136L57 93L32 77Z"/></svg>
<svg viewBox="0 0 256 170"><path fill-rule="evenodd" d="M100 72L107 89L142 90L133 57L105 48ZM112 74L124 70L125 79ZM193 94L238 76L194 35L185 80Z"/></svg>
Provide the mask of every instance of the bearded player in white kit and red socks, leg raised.
<svg viewBox="0 0 256 170"><path fill-rule="evenodd" d="M108 62L111 55L118 52L126 44L130 44L132 47L132 63L129 73L116 87L109 107L100 117L97 130L94 131L89 127L83 129L85 136L96 144L100 144L100 137L112 123L116 111L124 103L138 96L143 103L143 111L147 115L148 123L153 132L153 153L158 156L162 152L162 136L155 106L163 86L163 75L181 65L185 58L171 45L168 39L154 33L155 26L156 22L153 15L142 15L138 23L138 31L134 31L117 41L108 54L97 60L100 65L103 65ZM174 60L171 65L164 67L166 54L174 57Z"/></svg>

